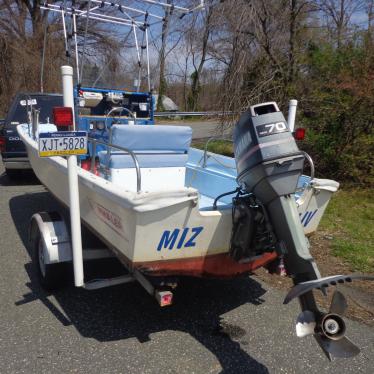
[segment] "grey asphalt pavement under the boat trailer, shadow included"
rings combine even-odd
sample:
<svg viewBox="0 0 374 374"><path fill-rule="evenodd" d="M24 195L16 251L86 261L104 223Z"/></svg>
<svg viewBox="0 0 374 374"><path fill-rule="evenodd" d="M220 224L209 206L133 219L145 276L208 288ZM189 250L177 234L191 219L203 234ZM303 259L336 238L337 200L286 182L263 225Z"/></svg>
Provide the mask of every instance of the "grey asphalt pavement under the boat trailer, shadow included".
<svg viewBox="0 0 374 374"><path fill-rule="evenodd" d="M160 308L136 283L97 291L39 286L27 245L32 214L60 209L32 175L0 167L0 373L373 373L374 330L347 321L362 349L329 362L298 339L297 302L255 277L183 279Z"/></svg>

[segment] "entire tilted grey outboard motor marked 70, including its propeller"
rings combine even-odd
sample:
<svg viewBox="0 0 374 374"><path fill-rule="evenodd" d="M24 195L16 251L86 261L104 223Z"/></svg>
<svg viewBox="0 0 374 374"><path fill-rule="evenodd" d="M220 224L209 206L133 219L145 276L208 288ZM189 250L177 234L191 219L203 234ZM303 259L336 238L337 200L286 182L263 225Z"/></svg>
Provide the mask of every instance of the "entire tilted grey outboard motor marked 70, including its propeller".
<svg viewBox="0 0 374 374"><path fill-rule="evenodd" d="M241 193L233 199L233 231L230 254L250 261L265 251L284 259L295 286L285 299L298 297L302 312L297 319L300 337L314 335L328 358L351 357L359 349L344 336L341 315L344 296L335 291L328 313L319 311L313 289L365 276L321 278L309 251L294 193L303 171L301 152L275 102L254 105L242 115L234 130L234 152Z"/></svg>

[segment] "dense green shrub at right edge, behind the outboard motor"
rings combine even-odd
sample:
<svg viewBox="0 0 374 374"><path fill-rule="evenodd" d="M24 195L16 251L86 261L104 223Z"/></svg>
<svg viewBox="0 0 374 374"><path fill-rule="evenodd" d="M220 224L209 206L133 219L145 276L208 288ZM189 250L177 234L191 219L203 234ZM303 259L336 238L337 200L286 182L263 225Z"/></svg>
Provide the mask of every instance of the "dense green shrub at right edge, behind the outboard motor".
<svg viewBox="0 0 374 374"><path fill-rule="evenodd" d="M299 124L319 174L374 185L374 60L363 46L314 47ZM301 93L300 93L301 94Z"/></svg>

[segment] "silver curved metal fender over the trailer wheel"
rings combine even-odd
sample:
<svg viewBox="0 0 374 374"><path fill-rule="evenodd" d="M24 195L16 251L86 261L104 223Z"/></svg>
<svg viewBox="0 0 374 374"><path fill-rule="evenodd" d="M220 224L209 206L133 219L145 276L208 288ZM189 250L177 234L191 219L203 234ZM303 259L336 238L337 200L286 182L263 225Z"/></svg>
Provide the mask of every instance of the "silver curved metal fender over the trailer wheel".
<svg viewBox="0 0 374 374"><path fill-rule="evenodd" d="M72 261L69 231L64 219L57 212L39 212L30 220L29 243L35 244L40 233L44 242L44 261L46 264Z"/></svg>

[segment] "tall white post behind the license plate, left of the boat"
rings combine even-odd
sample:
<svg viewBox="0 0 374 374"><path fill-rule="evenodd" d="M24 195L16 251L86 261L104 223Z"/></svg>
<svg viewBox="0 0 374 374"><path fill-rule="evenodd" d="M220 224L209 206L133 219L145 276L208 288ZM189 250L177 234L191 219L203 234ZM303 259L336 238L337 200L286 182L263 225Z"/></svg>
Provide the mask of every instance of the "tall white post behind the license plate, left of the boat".
<svg viewBox="0 0 374 374"><path fill-rule="evenodd" d="M62 91L64 106L73 109L73 130L75 130L74 95L73 95L73 68L61 66ZM74 284L76 287L84 286L82 233L79 207L77 156L67 158L69 179L69 206L71 222L71 242L73 249Z"/></svg>

